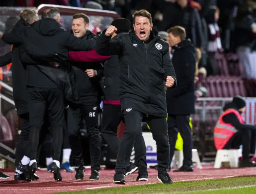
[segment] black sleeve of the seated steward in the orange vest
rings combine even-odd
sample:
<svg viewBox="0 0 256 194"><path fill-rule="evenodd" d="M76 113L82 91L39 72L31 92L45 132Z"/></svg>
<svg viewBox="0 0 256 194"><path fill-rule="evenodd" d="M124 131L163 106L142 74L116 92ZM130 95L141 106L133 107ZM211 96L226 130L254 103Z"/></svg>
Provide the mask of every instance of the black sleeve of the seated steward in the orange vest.
<svg viewBox="0 0 256 194"><path fill-rule="evenodd" d="M229 113L229 114L225 115L224 117L222 117L222 120L225 123L230 123L237 130L243 130L243 129L256 130L256 127L254 125L245 125L245 124L240 123L240 121L238 120L238 118L236 117L236 115L234 113Z"/></svg>

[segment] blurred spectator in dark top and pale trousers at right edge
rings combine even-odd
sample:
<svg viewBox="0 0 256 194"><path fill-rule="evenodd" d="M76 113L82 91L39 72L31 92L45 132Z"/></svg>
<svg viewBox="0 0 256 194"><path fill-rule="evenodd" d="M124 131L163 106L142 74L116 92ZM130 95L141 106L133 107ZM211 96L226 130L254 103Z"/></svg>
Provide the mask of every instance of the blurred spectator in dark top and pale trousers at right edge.
<svg viewBox="0 0 256 194"><path fill-rule="evenodd" d="M252 14L252 8L240 6L235 19L236 51L238 59L244 65L244 75L248 79L256 79L256 54L253 52L256 46L256 22Z"/></svg>

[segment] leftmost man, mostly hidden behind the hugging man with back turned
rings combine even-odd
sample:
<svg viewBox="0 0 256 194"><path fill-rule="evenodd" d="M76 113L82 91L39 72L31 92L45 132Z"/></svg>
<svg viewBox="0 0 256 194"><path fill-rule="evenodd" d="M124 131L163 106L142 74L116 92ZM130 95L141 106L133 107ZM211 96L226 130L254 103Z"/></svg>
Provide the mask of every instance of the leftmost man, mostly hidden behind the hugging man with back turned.
<svg viewBox="0 0 256 194"><path fill-rule="evenodd" d="M37 21L38 14L34 9L25 9L20 12L20 20L16 23L16 28L22 30ZM12 78L13 78L13 97L20 117L21 133L19 135L18 144L15 152L15 165L17 166L14 179L24 180L24 171L30 158L28 157L27 147L30 132L29 113L28 113L28 93L26 88L26 65L22 64L19 55L20 45L14 45L12 51L2 56L1 67L12 62ZM23 164L23 165L22 165ZM24 168L25 167L25 168ZM34 175L33 179L38 179Z"/></svg>

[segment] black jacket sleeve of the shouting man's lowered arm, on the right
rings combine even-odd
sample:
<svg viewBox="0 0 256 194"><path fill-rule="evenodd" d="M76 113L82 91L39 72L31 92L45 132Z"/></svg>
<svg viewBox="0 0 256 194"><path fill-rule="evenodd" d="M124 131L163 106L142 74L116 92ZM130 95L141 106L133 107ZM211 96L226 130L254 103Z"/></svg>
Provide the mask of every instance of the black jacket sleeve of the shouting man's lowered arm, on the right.
<svg viewBox="0 0 256 194"><path fill-rule="evenodd" d="M164 69L164 80L166 81L167 76L173 77L175 81L173 87L175 87L177 85L177 78L176 78L174 67L172 65L172 59L170 57L168 50L164 53L162 59L163 59L163 69Z"/></svg>

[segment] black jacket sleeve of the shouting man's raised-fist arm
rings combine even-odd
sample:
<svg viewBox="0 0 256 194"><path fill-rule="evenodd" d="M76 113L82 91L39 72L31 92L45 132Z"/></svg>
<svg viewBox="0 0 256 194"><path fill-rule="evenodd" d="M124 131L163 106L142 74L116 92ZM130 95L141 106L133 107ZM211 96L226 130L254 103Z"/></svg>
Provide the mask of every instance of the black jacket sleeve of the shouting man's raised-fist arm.
<svg viewBox="0 0 256 194"><path fill-rule="evenodd" d="M122 39L111 40L105 35L106 30L97 38L96 52L103 56L120 55L122 53Z"/></svg>

